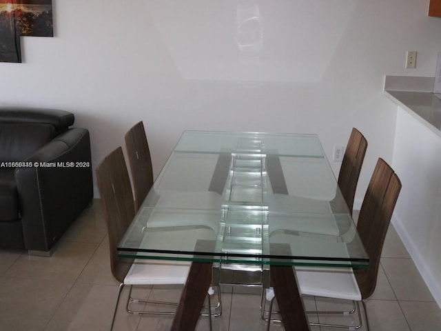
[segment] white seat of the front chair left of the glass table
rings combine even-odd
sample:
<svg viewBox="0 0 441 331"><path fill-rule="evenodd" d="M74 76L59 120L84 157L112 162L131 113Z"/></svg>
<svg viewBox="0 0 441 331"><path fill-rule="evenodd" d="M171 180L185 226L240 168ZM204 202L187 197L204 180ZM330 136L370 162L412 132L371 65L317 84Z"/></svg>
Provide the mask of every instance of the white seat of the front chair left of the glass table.
<svg viewBox="0 0 441 331"><path fill-rule="evenodd" d="M125 276L125 285L185 284L191 262L136 259Z"/></svg>

